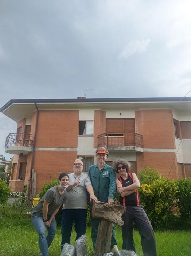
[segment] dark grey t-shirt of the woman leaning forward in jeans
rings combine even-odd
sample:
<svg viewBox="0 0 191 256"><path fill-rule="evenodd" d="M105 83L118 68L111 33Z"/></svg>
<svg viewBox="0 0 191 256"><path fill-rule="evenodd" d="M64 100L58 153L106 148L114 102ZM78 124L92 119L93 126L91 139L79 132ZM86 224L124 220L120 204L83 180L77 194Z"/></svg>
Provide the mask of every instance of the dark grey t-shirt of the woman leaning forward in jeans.
<svg viewBox="0 0 191 256"><path fill-rule="evenodd" d="M59 205L66 203L67 191L65 190L64 193L60 195L57 186L54 186L48 189L46 194L40 199L39 203L36 204L36 206L32 209L32 213L31 213L32 216L35 216L35 215L43 216L42 207L43 207L44 199L46 199L46 201L50 203L48 205L48 216L50 216Z"/></svg>

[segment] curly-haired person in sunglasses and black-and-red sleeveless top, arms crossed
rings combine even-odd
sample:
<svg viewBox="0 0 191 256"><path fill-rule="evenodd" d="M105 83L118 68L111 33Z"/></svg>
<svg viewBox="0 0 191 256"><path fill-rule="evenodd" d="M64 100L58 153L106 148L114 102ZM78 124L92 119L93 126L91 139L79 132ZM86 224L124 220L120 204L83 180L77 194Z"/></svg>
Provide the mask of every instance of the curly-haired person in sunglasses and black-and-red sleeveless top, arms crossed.
<svg viewBox="0 0 191 256"><path fill-rule="evenodd" d="M120 176L117 178L117 191L120 194L120 204L126 207L122 215L124 226L122 226L123 244L122 249L135 251L133 240L133 222L136 223L141 235L141 245L144 256L156 256L156 241L154 231L145 213L143 206L140 204L139 179L135 173L129 173L130 163L124 159L117 159L113 162L116 173Z"/></svg>

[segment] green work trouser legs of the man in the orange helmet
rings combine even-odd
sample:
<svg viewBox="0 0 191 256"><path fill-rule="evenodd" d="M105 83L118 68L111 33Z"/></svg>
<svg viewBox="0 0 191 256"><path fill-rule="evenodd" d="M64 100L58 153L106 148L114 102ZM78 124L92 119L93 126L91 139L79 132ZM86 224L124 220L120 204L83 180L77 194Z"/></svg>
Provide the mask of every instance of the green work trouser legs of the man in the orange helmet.
<svg viewBox="0 0 191 256"><path fill-rule="evenodd" d="M95 249L95 242L97 239L97 231L98 231L98 226L100 223L100 219L97 218L93 218L92 216L91 218L91 240L93 242L93 247ZM112 241L111 241L111 249L113 248L113 245L117 245L117 241L116 241L116 231L113 225L112 228Z"/></svg>

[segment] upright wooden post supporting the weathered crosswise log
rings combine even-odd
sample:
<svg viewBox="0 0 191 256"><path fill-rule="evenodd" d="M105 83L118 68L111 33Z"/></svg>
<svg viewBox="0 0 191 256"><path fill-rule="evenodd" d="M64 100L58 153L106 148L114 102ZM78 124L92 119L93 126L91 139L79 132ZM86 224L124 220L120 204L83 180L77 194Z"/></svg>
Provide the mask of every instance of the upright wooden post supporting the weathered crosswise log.
<svg viewBox="0 0 191 256"><path fill-rule="evenodd" d="M94 256L99 256L102 253L110 252L112 240L112 227L113 223L101 219L98 227L97 239L95 243Z"/></svg>

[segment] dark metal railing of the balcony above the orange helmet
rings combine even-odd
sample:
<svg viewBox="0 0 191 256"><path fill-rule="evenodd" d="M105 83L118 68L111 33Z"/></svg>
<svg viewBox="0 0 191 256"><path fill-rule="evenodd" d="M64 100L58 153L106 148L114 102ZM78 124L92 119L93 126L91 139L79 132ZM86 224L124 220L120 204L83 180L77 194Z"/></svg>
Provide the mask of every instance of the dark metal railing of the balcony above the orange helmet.
<svg viewBox="0 0 191 256"><path fill-rule="evenodd" d="M138 133L108 132L98 135L98 147L141 147L143 148L143 136Z"/></svg>

